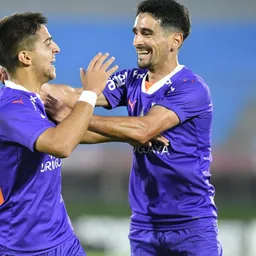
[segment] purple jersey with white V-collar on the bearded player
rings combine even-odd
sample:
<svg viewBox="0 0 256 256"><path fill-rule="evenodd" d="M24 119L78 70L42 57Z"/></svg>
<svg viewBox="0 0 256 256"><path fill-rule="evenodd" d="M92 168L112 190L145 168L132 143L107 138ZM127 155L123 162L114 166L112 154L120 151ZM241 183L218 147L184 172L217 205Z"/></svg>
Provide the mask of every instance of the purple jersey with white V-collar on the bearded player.
<svg viewBox="0 0 256 256"><path fill-rule="evenodd" d="M180 124L162 133L169 146L136 146L131 167L131 226L170 230L187 221L216 217L210 184L212 101L198 75L179 65L146 91L147 70L116 73L104 95L112 108L127 106L130 116L146 115L160 105L174 111ZM157 122L157 120L156 120Z"/></svg>

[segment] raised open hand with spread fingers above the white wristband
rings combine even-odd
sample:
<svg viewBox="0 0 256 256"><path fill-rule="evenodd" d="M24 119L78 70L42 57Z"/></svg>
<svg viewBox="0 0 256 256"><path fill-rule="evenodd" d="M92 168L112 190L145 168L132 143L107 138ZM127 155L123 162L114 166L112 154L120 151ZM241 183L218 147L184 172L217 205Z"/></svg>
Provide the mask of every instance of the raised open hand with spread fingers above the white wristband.
<svg viewBox="0 0 256 256"><path fill-rule="evenodd" d="M93 91L100 95L104 90L108 78L118 69L115 65L109 68L115 58L111 57L107 60L109 54L98 53L90 62L87 71L80 69L81 82L85 90Z"/></svg>

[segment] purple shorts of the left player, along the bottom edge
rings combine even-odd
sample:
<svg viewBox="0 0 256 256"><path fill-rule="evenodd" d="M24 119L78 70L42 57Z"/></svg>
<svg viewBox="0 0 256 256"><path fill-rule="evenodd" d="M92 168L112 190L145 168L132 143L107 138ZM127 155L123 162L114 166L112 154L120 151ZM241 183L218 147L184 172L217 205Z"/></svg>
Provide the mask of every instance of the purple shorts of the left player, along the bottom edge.
<svg viewBox="0 0 256 256"><path fill-rule="evenodd" d="M73 236L48 252L17 252L0 246L0 256L86 256L79 240Z"/></svg>

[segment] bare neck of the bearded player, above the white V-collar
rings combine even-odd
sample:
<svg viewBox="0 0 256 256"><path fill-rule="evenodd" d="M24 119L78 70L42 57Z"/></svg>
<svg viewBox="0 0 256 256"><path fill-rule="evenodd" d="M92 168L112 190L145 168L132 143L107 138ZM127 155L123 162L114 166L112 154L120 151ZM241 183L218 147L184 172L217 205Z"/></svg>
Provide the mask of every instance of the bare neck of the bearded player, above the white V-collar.
<svg viewBox="0 0 256 256"><path fill-rule="evenodd" d="M163 65L156 67L154 70L148 72L148 81L156 83L162 78L170 74L179 65L178 57L168 60Z"/></svg>

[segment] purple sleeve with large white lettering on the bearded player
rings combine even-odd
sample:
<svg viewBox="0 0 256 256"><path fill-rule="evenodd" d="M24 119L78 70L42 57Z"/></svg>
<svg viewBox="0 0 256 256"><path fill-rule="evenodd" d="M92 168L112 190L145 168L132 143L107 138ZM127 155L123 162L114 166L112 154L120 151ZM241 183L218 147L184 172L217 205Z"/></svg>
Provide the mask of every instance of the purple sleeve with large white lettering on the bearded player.
<svg viewBox="0 0 256 256"><path fill-rule="evenodd" d="M127 79L129 70L122 70L110 76L103 91L110 104L110 108L126 106Z"/></svg>

